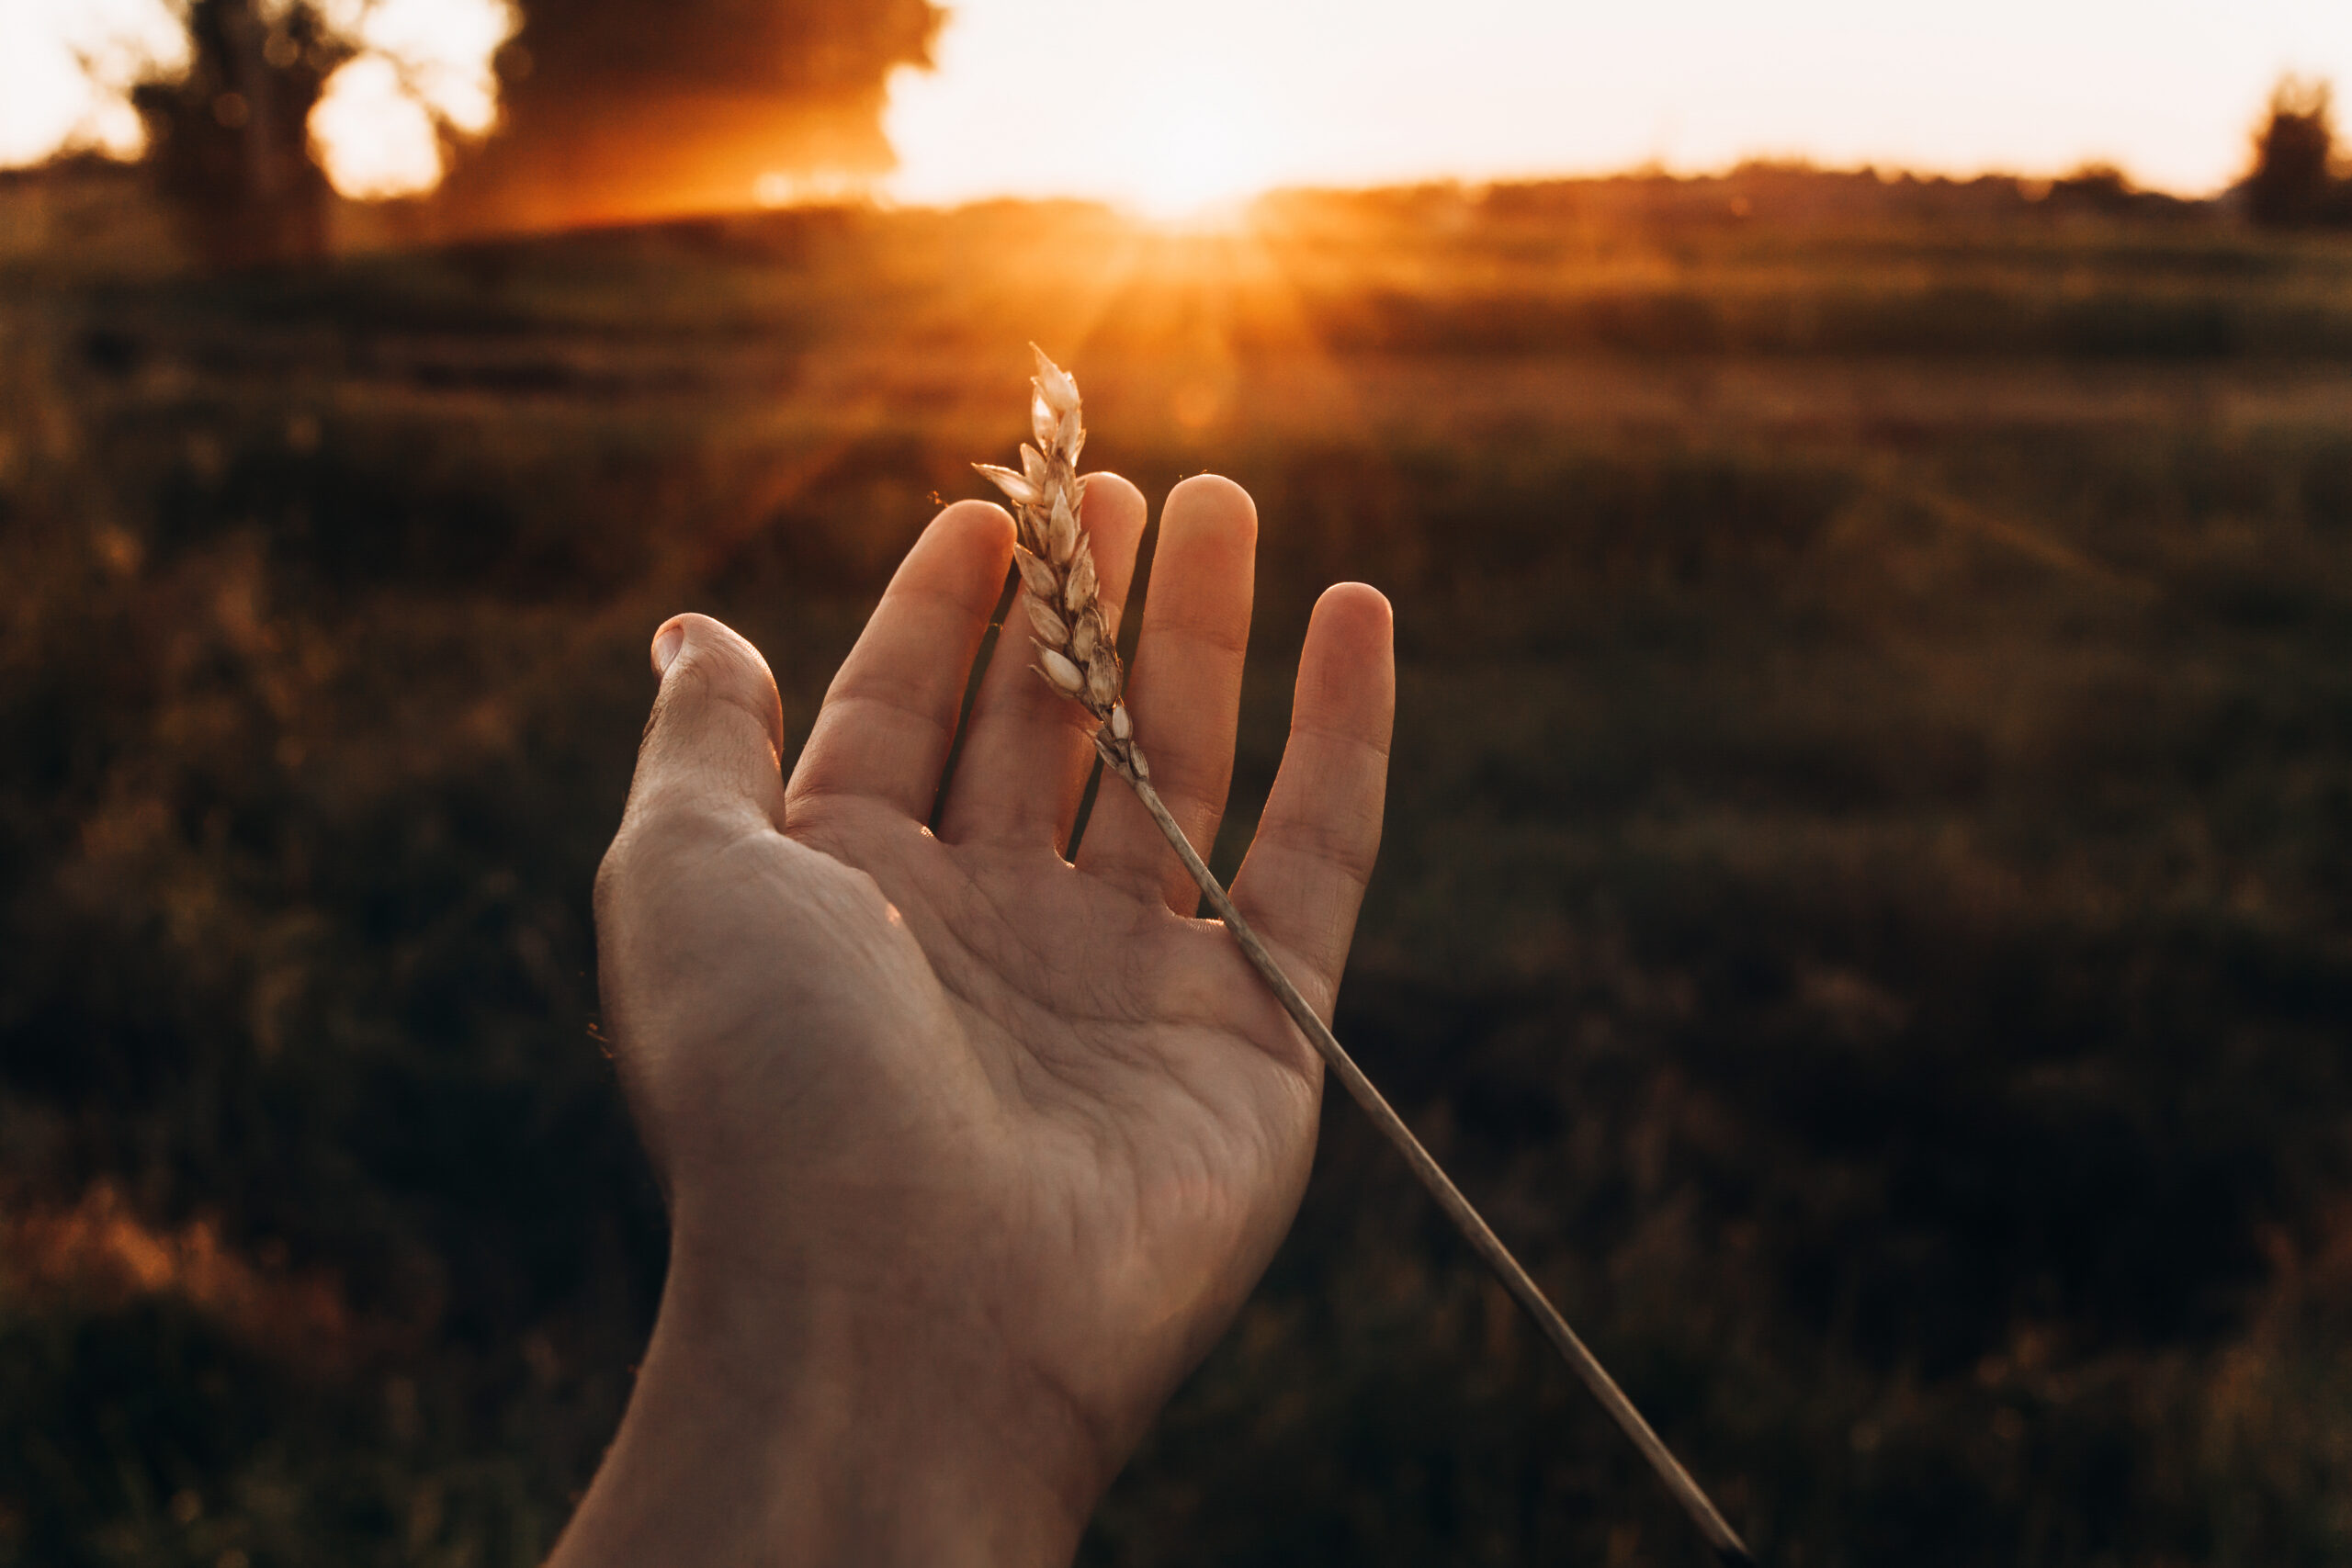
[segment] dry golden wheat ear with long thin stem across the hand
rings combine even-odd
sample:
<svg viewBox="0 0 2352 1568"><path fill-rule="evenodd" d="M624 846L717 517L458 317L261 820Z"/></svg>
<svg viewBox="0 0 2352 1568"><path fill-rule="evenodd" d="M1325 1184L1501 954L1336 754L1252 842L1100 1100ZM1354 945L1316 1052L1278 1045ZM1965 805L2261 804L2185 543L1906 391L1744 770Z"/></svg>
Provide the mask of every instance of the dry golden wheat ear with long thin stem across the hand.
<svg viewBox="0 0 2352 1568"><path fill-rule="evenodd" d="M1136 745L1136 726L1127 717L1127 703L1120 696L1127 672L1120 668L1120 651L1112 646L1115 628L1103 609L1094 555L1087 548L1087 536L1077 529L1077 503L1087 491L1084 480L1077 477L1077 454L1087 444L1087 418L1077 397L1077 381L1047 360L1044 350L1035 343L1030 343L1030 353L1037 355L1037 374L1030 381L1030 433L1037 437L1037 444L1021 447L1018 470L993 463L974 463L974 468L1004 491L1021 524L1014 562L1021 567L1023 614L1035 632L1037 675L1054 691L1084 703L1087 712L1098 719L1094 750L1103 755L1103 766L1127 780L1127 788L1136 792L1143 809L1152 813L1169 849L1183 858L1202 896L1216 910L1218 919L1225 922L1225 929L1232 931L1232 940L1242 945L1242 952L1265 978L1265 985L1282 999L1282 1006L1305 1032L1308 1041L1312 1041L1324 1065L1348 1086L1348 1095L1364 1107L1374 1126L1397 1145L1397 1152L1404 1154L1404 1161L1421 1178L1421 1185L1430 1190L1430 1197L1437 1199L1437 1206L1446 1211L1446 1218L1468 1237L1477 1255L1503 1281L1503 1288L1534 1319L1543 1338L1552 1342L1552 1349L1592 1389L1592 1396L1609 1410L1625 1436L1632 1439L1632 1446L1642 1450L1642 1458L1658 1472L1658 1479L1665 1481L1675 1502L1691 1516L1691 1523L1715 1547L1715 1554L1724 1563L1752 1566L1755 1556L1740 1542L1738 1533L1724 1523L1708 1493L1698 1488L1698 1481L1682 1467L1682 1460L1642 1420L1642 1413L1625 1399L1625 1389L1585 1349L1585 1342L1576 1338L1576 1331L1559 1316L1559 1309L1543 1295L1543 1288L1510 1255L1510 1248L1503 1246L1503 1239L1494 1234L1494 1227L1486 1225L1470 1199L1463 1197L1454 1178L1421 1147L1414 1128L1404 1126L1404 1117L1364 1077L1364 1070L1355 1065L1355 1058L1338 1044L1338 1037L1331 1034L1322 1016L1298 994L1291 978L1282 973L1282 964L1258 940L1258 933L1249 929L1242 912L1232 907L1232 898L1223 884L1218 884L1209 865L1183 837L1176 818L1169 816L1160 790L1152 788L1143 748Z"/></svg>

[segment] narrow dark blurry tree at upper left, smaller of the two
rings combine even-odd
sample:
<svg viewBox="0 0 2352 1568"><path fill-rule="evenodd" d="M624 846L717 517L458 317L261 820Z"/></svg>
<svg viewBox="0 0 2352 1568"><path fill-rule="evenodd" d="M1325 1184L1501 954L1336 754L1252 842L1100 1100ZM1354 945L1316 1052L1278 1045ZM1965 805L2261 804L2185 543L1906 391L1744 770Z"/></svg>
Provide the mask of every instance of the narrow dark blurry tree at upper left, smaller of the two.
<svg viewBox="0 0 2352 1568"><path fill-rule="evenodd" d="M310 7L268 21L259 0L195 0L188 42L181 80L134 94L155 186L181 230L216 263L315 256L329 188L308 120L348 47Z"/></svg>

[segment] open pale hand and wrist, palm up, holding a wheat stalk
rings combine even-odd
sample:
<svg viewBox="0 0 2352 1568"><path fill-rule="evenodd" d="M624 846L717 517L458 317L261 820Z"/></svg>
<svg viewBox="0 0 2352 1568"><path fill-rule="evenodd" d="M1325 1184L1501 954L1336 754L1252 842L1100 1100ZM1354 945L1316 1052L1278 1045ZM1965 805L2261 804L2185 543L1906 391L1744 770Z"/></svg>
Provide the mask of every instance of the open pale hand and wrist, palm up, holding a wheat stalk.
<svg viewBox="0 0 2352 1568"><path fill-rule="evenodd" d="M1112 607L1143 522L1131 484L1089 484ZM654 637L597 940L670 1272L557 1568L1068 1563L1298 1208L1322 1065L1117 780L1065 858L1091 719L1021 637L943 780L1011 538L976 501L929 524L790 778L760 654L706 616ZM1240 487L1176 487L1129 677L1200 846L1254 545ZM1327 1018L1392 703L1388 602L1331 588L1232 884Z"/></svg>

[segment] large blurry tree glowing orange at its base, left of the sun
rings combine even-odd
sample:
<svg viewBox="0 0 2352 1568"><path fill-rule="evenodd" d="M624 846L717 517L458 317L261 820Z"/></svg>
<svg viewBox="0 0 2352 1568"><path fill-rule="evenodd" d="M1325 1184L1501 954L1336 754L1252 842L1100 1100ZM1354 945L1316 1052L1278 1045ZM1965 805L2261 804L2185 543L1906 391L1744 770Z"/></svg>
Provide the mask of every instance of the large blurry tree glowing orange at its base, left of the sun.
<svg viewBox="0 0 2352 1568"><path fill-rule="evenodd" d="M743 207L762 172L891 167L889 73L927 66L929 0L524 0L503 125L461 158L452 228Z"/></svg>

